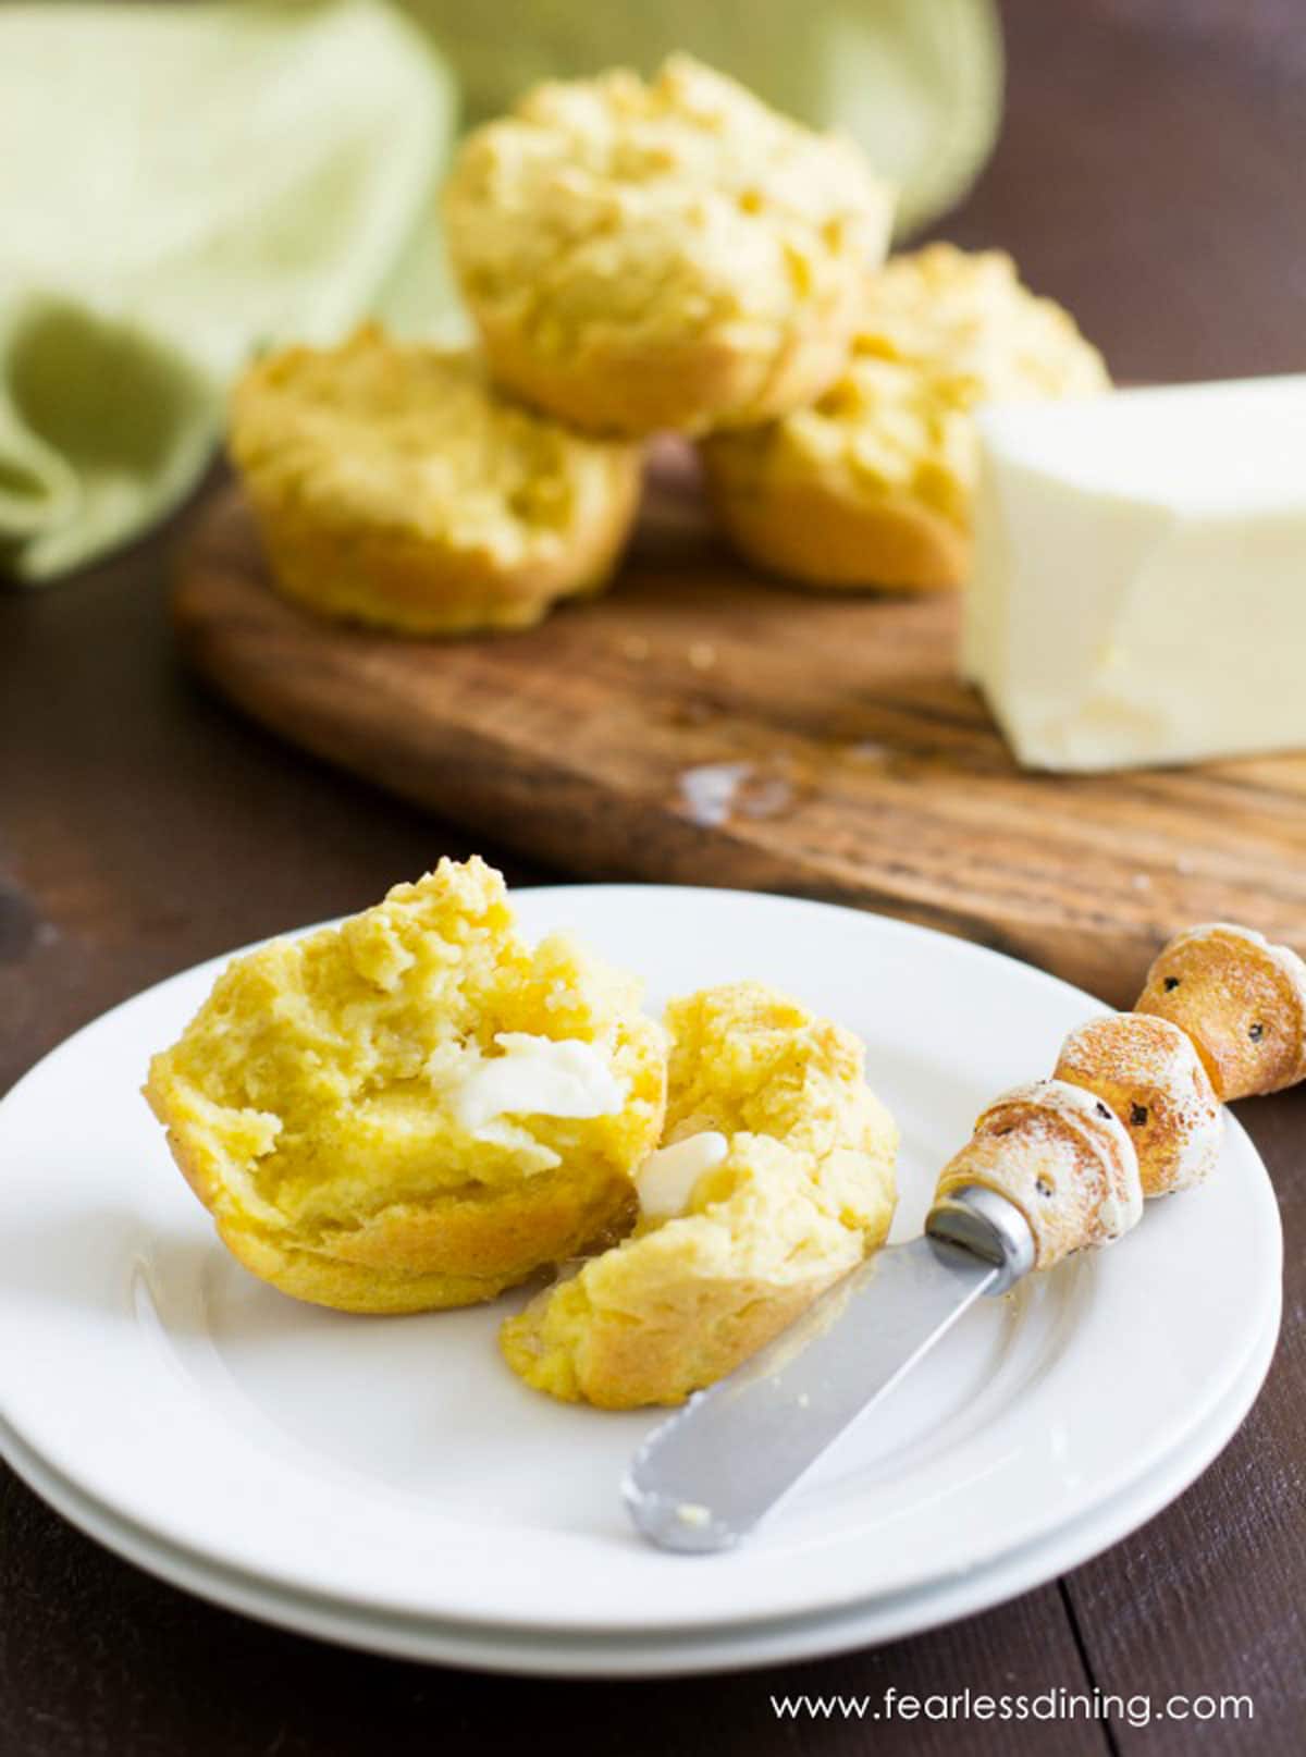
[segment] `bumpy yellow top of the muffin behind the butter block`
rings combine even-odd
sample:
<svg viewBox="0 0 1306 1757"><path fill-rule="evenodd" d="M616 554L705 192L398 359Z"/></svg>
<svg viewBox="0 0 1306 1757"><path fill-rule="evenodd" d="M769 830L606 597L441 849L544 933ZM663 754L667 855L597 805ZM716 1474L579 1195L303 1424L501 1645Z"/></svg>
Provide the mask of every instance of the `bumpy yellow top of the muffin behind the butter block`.
<svg viewBox="0 0 1306 1757"><path fill-rule="evenodd" d="M965 525L981 402L1106 388L1097 348L1021 285L1011 257L930 244L868 278L847 367L817 402L710 445L728 466L817 467L851 494L909 492Z"/></svg>

